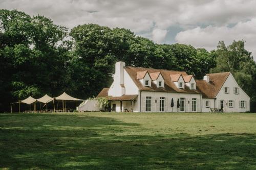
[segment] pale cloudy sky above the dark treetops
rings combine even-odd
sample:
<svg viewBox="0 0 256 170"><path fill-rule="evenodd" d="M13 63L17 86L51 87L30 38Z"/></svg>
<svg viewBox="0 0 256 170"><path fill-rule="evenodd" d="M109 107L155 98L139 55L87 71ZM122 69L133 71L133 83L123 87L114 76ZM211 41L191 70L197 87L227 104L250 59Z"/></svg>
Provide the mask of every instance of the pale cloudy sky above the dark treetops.
<svg viewBox="0 0 256 170"><path fill-rule="evenodd" d="M44 15L69 29L85 23L125 28L156 43L185 43L214 50L245 40L256 59L254 0L0 0L1 9Z"/></svg>

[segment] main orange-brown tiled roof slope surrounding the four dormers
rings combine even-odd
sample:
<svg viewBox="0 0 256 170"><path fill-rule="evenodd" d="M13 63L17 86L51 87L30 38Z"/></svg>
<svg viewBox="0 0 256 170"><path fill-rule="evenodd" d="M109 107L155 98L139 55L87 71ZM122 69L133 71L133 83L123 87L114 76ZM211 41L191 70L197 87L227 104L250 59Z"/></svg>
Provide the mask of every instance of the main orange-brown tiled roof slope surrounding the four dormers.
<svg viewBox="0 0 256 170"><path fill-rule="evenodd" d="M172 70L165 70L165 69L153 69L153 68L142 68L142 67L131 67L126 66L124 69L127 71L127 73L130 75L136 86L139 90L147 90L147 91L166 91L166 92L181 92L181 93L201 93L197 90L191 90L189 87L185 86L184 89L178 88L174 82L170 80L170 75L182 75L186 76L186 72L184 71L172 71ZM157 87L154 83L152 83L152 87L145 87L143 86L139 79L137 78L137 72L144 71L148 72L149 74L152 74L153 72L161 72L161 75L164 79L164 88Z"/></svg>

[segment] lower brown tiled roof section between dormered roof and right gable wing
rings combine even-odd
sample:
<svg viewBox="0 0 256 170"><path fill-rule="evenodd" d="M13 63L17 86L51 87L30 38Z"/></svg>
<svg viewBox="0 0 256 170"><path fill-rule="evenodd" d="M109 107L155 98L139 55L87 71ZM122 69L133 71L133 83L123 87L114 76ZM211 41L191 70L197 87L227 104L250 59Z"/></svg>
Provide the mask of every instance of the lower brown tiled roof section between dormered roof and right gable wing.
<svg viewBox="0 0 256 170"><path fill-rule="evenodd" d="M204 80L196 80L197 90L203 93L203 98L215 98L214 85Z"/></svg>

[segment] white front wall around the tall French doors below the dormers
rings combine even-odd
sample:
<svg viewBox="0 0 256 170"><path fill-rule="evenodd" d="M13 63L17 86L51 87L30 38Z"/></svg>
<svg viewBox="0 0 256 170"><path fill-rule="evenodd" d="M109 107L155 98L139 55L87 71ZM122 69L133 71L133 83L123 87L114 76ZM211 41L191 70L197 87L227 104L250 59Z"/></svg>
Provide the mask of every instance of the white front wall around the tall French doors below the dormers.
<svg viewBox="0 0 256 170"><path fill-rule="evenodd" d="M165 108L164 112L177 112L180 111L180 108L177 108L177 101L180 98L185 98L185 112L192 111L192 98L197 99L197 112L201 112L201 94L193 94L193 93L175 93L175 92L157 92L157 91L142 91L141 92L141 111L145 112L145 100L146 96L152 97L152 112L159 111L159 101L160 97L165 98ZM174 107L170 106L172 102L172 98L174 99ZM155 103L155 100L157 103Z"/></svg>

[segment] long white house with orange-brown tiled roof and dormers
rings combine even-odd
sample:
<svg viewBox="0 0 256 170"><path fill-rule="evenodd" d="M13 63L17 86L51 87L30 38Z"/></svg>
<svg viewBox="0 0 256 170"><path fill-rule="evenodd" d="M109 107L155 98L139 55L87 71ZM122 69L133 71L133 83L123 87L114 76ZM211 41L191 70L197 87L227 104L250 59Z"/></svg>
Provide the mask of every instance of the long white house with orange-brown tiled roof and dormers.
<svg viewBox="0 0 256 170"><path fill-rule="evenodd" d="M115 64L114 82L97 97L108 98L111 110L116 112L250 110L249 96L230 72L208 74L203 80L196 80L184 71L125 66L124 62Z"/></svg>

